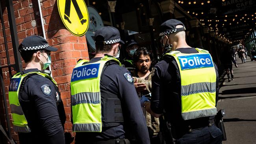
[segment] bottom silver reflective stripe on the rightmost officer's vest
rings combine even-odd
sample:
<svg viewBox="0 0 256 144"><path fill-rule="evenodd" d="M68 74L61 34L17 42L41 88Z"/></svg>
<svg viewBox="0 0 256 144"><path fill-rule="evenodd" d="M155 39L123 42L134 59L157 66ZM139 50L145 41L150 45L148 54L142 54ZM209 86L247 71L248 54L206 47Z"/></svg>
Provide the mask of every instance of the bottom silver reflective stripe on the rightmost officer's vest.
<svg viewBox="0 0 256 144"><path fill-rule="evenodd" d="M205 116L214 116L216 115L216 113L217 113L217 109L216 107L214 107L212 109L204 109L204 110L182 113L182 118L184 120L190 120L190 119L200 118Z"/></svg>

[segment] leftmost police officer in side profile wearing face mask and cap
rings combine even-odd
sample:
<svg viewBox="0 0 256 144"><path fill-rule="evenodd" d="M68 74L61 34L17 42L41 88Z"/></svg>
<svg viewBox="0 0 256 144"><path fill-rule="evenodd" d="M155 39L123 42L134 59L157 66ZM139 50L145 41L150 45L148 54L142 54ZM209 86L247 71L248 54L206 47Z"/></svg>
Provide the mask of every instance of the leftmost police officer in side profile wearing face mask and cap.
<svg viewBox="0 0 256 144"><path fill-rule="evenodd" d="M51 51L57 50L37 35L26 37L19 46L26 68L11 79L9 103L20 144L65 144L63 103L56 81L45 70Z"/></svg>

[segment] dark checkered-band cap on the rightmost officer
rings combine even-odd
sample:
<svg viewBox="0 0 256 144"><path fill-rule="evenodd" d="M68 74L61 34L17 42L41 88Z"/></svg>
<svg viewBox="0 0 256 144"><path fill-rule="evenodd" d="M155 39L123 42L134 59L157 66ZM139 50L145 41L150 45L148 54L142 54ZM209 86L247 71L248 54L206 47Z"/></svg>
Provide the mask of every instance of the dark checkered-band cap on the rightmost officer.
<svg viewBox="0 0 256 144"><path fill-rule="evenodd" d="M176 28L176 26L178 25L182 25L183 28ZM176 33L179 31L184 31L186 30L184 24L180 21L180 20L176 20L176 19L170 19L170 20L166 20L165 22L163 22L160 26L160 36L163 35L168 35L170 33Z"/></svg>

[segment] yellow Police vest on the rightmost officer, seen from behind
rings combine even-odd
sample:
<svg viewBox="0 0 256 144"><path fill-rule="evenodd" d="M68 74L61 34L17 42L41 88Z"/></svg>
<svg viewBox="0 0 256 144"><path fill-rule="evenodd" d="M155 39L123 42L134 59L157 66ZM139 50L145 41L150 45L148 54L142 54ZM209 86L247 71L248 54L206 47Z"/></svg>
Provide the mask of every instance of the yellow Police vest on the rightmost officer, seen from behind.
<svg viewBox="0 0 256 144"><path fill-rule="evenodd" d="M181 79L181 110L184 120L213 116L217 113L216 72L207 50L196 48L196 54L171 51Z"/></svg>

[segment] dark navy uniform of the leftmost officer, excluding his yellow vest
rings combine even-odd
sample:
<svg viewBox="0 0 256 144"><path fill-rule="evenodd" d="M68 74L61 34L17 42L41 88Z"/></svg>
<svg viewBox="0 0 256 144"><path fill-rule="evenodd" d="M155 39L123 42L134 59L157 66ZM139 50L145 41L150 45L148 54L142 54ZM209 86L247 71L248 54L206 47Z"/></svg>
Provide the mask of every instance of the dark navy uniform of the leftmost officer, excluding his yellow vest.
<svg viewBox="0 0 256 144"><path fill-rule="evenodd" d="M37 68L24 70L21 74L39 72ZM47 85L51 94L45 94L41 86ZM20 86L19 102L31 129L19 133L20 144L65 144L66 120L58 87L48 78L30 74Z"/></svg>

